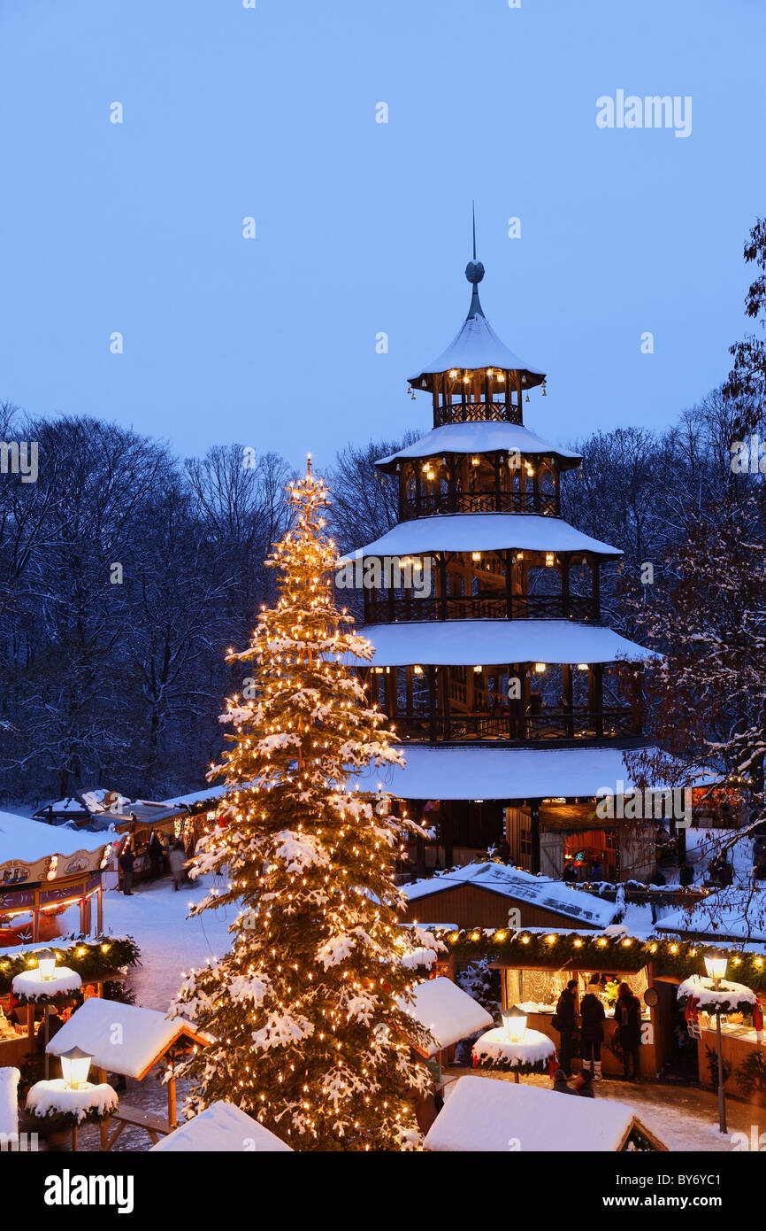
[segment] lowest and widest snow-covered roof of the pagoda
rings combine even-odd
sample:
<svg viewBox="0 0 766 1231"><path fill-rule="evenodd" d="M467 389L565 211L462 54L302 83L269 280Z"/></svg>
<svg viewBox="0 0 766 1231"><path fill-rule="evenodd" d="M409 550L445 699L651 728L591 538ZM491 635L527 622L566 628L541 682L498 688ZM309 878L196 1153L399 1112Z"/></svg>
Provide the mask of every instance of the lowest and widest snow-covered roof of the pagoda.
<svg viewBox="0 0 766 1231"><path fill-rule="evenodd" d="M620 748L403 748L406 766L368 767L359 790L379 783L400 799L595 798L604 788L634 789ZM654 783L657 788L666 785Z"/></svg>

